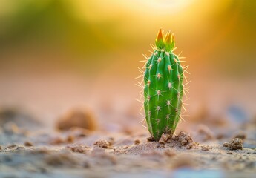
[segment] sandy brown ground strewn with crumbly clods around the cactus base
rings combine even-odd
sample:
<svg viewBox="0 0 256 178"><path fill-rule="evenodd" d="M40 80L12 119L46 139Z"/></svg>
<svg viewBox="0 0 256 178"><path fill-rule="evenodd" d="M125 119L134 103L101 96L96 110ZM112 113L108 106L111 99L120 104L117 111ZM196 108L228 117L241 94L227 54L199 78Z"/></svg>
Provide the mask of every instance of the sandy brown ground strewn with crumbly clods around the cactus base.
<svg viewBox="0 0 256 178"><path fill-rule="evenodd" d="M54 131L16 111L0 114L0 177L254 177L255 122L240 131L191 131L148 141L138 128ZM90 129L90 128L89 128ZM234 139L234 137L238 139ZM233 142L232 142L233 140Z"/></svg>

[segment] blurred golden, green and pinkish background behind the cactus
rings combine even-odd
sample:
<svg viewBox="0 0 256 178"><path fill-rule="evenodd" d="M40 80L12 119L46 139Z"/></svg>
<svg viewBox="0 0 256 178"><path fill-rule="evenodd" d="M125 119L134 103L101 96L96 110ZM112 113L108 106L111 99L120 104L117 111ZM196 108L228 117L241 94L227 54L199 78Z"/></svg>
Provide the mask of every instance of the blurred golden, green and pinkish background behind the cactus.
<svg viewBox="0 0 256 178"><path fill-rule="evenodd" d="M254 0L0 0L0 107L50 127L78 107L111 131L141 127L137 66L163 27L190 65L184 119L252 119L255 9Z"/></svg>

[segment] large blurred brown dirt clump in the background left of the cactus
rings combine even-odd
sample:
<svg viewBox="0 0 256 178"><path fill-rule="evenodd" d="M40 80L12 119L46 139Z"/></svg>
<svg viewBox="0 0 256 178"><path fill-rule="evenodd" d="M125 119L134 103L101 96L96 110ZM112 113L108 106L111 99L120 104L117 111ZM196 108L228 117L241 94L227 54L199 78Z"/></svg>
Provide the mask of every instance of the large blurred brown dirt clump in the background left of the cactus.
<svg viewBox="0 0 256 178"><path fill-rule="evenodd" d="M85 128L88 131L96 130L96 118L91 111L76 109L59 118L56 128L68 131L70 128Z"/></svg>

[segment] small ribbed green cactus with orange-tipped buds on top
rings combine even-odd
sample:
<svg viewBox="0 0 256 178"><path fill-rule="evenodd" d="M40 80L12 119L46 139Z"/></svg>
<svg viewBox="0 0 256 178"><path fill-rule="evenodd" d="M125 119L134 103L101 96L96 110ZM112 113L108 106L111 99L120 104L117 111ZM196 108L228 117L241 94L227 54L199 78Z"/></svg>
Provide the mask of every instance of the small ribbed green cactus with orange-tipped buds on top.
<svg viewBox="0 0 256 178"><path fill-rule="evenodd" d="M145 64L144 109L148 131L154 140L163 133L173 134L183 105L183 67L173 53L174 36L168 31L157 34L154 53Z"/></svg>

